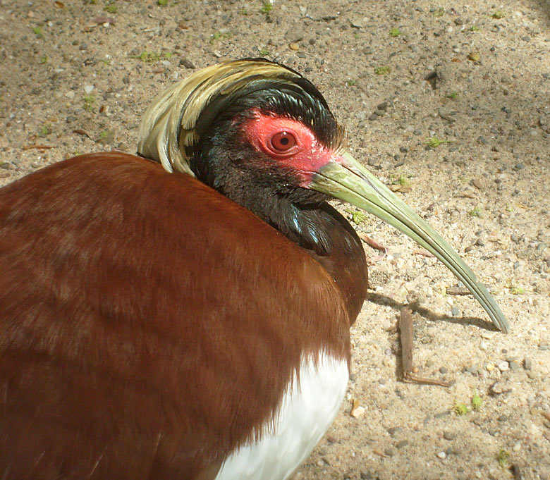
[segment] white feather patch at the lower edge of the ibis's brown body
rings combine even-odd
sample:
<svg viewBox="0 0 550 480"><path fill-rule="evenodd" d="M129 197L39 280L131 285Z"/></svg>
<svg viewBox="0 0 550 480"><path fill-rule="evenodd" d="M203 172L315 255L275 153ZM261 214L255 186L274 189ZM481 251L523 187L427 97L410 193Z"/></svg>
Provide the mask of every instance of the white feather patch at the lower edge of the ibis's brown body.
<svg viewBox="0 0 550 480"><path fill-rule="evenodd" d="M348 363L319 355L302 359L300 383L289 383L274 428L224 462L216 480L285 480L307 459L336 417L348 385Z"/></svg>

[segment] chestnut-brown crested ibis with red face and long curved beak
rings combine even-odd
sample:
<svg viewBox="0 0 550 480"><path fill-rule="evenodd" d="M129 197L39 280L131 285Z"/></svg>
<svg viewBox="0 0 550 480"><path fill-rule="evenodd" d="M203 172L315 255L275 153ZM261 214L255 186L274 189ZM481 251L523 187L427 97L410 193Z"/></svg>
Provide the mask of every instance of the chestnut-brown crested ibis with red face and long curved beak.
<svg viewBox="0 0 550 480"><path fill-rule="evenodd" d="M0 189L0 477L284 480L346 393L367 297L349 202L458 254L344 146L312 82L209 66L142 117L138 154ZM376 319L372 319L376 321Z"/></svg>

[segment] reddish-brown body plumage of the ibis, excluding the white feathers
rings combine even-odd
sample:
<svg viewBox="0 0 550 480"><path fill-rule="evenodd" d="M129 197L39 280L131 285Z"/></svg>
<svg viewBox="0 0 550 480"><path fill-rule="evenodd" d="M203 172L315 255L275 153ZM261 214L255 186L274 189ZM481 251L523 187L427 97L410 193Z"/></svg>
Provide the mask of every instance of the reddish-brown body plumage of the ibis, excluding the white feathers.
<svg viewBox="0 0 550 480"><path fill-rule="evenodd" d="M301 355L349 361L350 260L188 175L90 154L0 204L3 479L213 479Z"/></svg>

